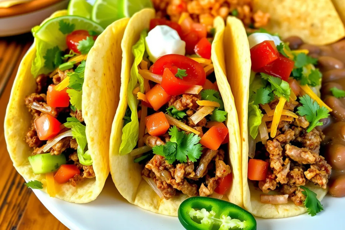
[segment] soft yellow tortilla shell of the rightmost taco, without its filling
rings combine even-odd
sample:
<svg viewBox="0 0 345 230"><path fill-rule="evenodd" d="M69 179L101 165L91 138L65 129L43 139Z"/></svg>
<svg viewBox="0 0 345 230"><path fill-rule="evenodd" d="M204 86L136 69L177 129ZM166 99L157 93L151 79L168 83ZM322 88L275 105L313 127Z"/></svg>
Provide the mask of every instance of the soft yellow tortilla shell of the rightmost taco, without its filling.
<svg viewBox="0 0 345 230"><path fill-rule="evenodd" d="M260 189L253 183L248 183L248 100L250 77L250 52L247 34L243 23L235 18L228 17L224 43L226 53L227 77L230 87L234 90L235 103L239 117L241 146L242 146L242 182L244 207L255 216L264 218L282 218L296 216L305 213L305 207L296 206L292 201L287 204L261 203ZM309 189L317 193L317 198L322 200L327 190L318 188L312 183L307 185ZM274 192L271 192L274 194ZM269 194L271 194L269 193Z"/></svg>

